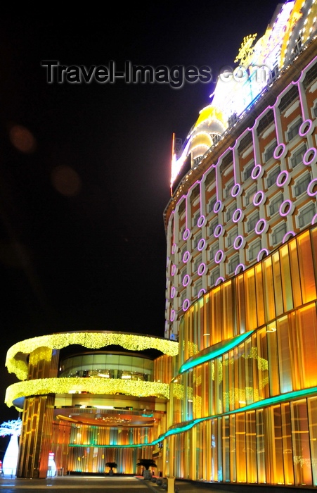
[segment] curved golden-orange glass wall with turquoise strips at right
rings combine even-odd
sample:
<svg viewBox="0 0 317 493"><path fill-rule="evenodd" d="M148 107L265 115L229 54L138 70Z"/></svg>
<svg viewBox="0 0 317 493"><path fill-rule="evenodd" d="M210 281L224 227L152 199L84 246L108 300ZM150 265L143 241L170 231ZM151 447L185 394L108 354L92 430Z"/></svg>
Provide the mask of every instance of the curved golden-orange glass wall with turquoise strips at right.
<svg viewBox="0 0 317 493"><path fill-rule="evenodd" d="M176 477L317 486L316 259L312 226L184 314Z"/></svg>

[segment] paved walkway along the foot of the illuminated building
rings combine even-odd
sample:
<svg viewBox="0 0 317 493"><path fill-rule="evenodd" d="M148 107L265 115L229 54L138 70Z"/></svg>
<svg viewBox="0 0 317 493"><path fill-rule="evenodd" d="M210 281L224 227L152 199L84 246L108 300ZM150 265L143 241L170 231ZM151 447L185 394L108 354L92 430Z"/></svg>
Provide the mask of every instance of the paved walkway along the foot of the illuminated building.
<svg viewBox="0 0 317 493"><path fill-rule="evenodd" d="M20 479L0 476L0 493L25 493L26 490L48 490L56 493L69 493L69 490L77 489L79 493L96 493L96 489L103 489L107 493L172 493L167 489L166 478L162 479L162 485L157 482L144 480L141 476L55 476L54 478ZM197 481L174 480L169 482L169 487L174 484L175 492L179 493L295 493L311 492L316 488L295 487L269 487L249 485L218 485Z"/></svg>

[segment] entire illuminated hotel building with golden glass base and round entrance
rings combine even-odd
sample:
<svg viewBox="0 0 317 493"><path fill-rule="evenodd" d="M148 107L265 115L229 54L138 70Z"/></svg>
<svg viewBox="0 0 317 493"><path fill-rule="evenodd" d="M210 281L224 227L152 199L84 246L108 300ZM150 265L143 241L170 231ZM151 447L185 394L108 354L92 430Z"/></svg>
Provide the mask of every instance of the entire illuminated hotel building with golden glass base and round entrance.
<svg viewBox="0 0 317 493"><path fill-rule="evenodd" d="M135 473L142 455L169 477L317 487L316 29L316 1L280 4L174 141L164 338L9 349L25 380L6 394L24 400L19 476L45 477L51 449L74 472ZM72 344L89 354L63 356Z"/></svg>

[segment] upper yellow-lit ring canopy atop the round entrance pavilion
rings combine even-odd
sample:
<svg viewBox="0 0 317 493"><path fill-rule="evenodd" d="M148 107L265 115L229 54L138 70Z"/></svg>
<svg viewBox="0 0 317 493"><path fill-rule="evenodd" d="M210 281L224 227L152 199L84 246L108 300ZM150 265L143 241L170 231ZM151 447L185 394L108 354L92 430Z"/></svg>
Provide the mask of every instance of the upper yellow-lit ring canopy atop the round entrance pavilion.
<svg viewBox="0 0 317 493"><path fill-rule="evenodd" d="M106 346L121 346L129 351L143 349L158 349L163 354L176 356L179 354L179 344L162 337L129 334L128 332L60 332L58 334L41 335L17 342L6 354L8 373L15 373L19 380L27 380L27 355L35 349L63 349L77 344L88 349L101 349Z"/></svg>

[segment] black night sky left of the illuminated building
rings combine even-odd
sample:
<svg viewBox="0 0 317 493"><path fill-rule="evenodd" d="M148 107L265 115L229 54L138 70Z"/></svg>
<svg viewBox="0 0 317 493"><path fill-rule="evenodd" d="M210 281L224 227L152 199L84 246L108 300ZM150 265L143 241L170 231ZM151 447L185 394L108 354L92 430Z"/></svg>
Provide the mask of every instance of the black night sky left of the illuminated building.
<svg viewBox="0 0 317 493"><path fill-rule="evenodd" d="M172 134L186 138L214 89L48 84L41 61L207 65L216 81L276 6L174 0L1 13L1 422L18 417L1 404L17 381L4 367L16 342L74 330L164 337Z"/></svg>

